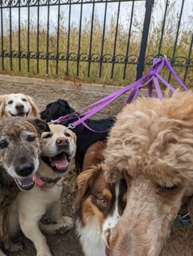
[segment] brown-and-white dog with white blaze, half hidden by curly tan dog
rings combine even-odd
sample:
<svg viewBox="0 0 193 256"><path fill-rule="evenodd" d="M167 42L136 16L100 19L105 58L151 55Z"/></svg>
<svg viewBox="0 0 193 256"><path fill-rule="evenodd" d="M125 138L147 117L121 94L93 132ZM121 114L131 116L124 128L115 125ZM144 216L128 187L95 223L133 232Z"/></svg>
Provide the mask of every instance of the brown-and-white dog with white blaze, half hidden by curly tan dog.
<svg viewBox="0 0 193 256"><path fill-rule="evenodd" d="M86 256L109 254L103 237L118 223L126 204L125 180L110 184L104 178L105 147L106 142L95 142L87 149L83 173L77 178L75 227Z"/></svg>

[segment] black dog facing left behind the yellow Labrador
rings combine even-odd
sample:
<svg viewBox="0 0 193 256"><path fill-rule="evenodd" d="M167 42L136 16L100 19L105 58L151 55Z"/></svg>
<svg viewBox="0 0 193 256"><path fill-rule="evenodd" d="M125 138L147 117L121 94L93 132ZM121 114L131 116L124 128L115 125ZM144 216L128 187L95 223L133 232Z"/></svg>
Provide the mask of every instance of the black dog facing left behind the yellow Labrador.
<svg viewBox="0 0 193 256"><path fill-rule="evenodd" d="M73 112L75 112L75 110L69 106L66 100L58 99L55 102L49 103L46 106L46 109L40 114L42 119L44 119L46 122L50 122L51 120L56 120L57 118L60 118L66 114L71 114ZM65 122L64 126L68 126L69 123L75 122L77 119L78 117L68 122ZM91 127L91 129L93 130L104 130L104 132L102 133L96 133L88 130L82 124L75 126L75 128L73 129L77 136L75 165L80 172L82 171L83 157L87 151L87 148L94 142L102 141L103 139L105 139L108 135L108 131L106 130L110 130L110 128L114 125L115 120L116 119L114 117L110 117L99 120L89 118L85 121L87 123L87 126Z"/></svg>

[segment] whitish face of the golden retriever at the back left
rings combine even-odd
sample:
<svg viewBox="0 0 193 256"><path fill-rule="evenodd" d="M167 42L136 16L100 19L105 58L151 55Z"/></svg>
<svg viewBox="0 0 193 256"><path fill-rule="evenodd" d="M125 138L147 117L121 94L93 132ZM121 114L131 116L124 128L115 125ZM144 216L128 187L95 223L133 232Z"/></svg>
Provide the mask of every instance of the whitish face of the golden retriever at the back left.
<svg viewBox="0 0 193 256"><path fill-rule="evenodd" d="M32 111L32 106L25 95L10 94L6 100L5 112L8 116L21 116L27 118Z"/></svg>

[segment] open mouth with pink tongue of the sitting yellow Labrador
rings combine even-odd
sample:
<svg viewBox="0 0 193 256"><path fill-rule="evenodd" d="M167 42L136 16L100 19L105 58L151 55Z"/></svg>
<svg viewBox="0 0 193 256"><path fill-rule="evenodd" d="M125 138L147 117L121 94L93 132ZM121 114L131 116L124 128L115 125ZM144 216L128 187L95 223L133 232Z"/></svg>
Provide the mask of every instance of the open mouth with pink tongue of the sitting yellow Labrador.
<svg viewBox="0 0 193 256"><path fill-rule="evenodd" d="M59 153L56 157L49 157L50 164L56 172L65 172L68 168L68 164L71 160L71 156L68 153Z"/></svg>

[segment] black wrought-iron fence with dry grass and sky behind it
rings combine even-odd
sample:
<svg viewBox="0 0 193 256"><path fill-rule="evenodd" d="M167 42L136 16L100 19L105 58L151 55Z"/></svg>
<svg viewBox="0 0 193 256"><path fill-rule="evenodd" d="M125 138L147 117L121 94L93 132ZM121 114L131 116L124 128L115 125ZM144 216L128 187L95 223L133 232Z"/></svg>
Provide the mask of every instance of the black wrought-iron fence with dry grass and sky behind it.
<svg viewBox="0 0 193 256"><path fill-rule="evenodd" d="M1 0L0 72L125 84L164 54L191 87L189 0ZM169 72L165 72L168 81Z"/></svg>

